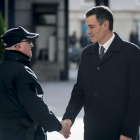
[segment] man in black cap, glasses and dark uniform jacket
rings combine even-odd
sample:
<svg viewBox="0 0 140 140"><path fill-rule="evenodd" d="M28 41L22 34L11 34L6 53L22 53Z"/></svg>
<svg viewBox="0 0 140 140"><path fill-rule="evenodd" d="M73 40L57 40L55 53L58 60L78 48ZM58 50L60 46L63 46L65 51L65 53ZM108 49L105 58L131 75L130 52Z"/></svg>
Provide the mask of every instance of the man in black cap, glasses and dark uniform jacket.
<svg viewBox="0 0 140 140"><path fill-rule="evenodd" d="M5 51L0 63L0 140L47 140L46 131L69 136L69 129L44 103L30 68L32 40L38 36L21 26L1 36Z"/></svg>

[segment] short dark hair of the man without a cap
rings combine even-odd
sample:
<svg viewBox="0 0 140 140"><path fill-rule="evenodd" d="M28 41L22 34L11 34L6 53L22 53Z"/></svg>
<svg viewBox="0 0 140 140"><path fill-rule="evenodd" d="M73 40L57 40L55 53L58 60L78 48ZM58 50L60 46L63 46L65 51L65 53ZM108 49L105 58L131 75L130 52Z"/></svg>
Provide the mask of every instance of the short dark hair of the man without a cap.
<svg viewBox="0 0 140 140"><path fill-rule="evenodd" d="M85 17L89 17L92 15L96 15L97 20L99 21L99 24L102 25L105 21L109 22L109 29L110 31L113 30L113 14L110 11L110 9L106 6L95 6L91 9L89 9L85 13Z"/></svg>

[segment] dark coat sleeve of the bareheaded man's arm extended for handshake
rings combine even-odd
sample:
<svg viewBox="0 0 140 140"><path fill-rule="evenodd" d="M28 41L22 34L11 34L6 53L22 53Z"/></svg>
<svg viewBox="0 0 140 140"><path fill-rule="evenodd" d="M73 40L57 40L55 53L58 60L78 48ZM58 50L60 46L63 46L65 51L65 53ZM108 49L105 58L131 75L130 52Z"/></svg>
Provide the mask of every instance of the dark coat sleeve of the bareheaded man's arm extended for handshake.
<svg viewBox="0 0 140 140"><path fill-rule="evenodd" d="M63 120L70 119L72 123L74 123L76 116L78 115L81 108L83 107L84 97L85 94L84 94L84 85L83 85L83 78L82 78L82 62L80 62L77 82L73 87L71 98L66 108L66 112L63 116Z"/></svg>

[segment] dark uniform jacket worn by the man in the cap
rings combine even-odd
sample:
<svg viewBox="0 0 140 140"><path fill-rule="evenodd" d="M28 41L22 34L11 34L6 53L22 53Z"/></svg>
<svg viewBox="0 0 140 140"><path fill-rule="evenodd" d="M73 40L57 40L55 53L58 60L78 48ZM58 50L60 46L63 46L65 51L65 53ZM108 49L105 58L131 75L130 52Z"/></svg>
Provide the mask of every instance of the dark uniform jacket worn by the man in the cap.
<svg viewBox="0 0 140 140"><path fill-rule="evenodd" d="M45 131L60 131L61 123L43 101L43 91L30 58L18 51L4 51L0 63L0 140L24 140L23 117L39 125L34 140L46 140Z"/></svg>

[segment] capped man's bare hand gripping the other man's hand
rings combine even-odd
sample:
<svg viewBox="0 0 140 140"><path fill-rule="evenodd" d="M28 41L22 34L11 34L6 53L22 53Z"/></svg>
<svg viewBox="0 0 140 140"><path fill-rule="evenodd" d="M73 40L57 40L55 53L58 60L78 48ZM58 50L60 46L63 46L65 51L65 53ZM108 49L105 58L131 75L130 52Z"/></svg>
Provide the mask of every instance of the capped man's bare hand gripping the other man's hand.
<svg viewBox="0 0 140 140"><path fill-rule="evenodd" d="M62 134L67 139L71 134L70 129L63 123L63 121L61 121L61 124L62 124L62 129L59 133Z"/></svg>

